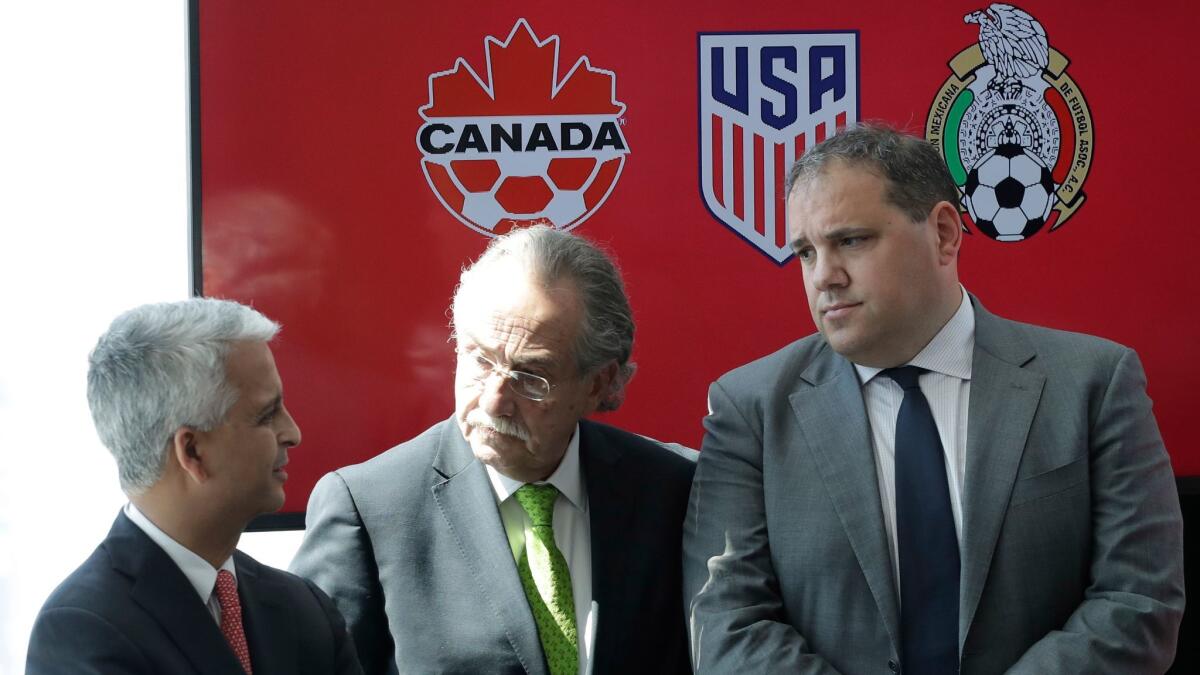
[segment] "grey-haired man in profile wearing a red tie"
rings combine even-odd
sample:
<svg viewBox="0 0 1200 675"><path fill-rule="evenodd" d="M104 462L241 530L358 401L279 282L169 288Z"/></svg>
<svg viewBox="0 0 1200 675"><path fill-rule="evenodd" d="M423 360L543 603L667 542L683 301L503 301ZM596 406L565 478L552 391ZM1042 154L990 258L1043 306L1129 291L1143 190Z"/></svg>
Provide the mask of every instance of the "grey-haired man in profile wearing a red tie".
<svg viewBox="0 0 1200 675"><path fill-rule="evenodd" d="M235 550L283 506L300 429L268 342L228 300L144 305L89 359L88 404L130 502L46 601L26 673L361 673L332 602Z"/></svg>

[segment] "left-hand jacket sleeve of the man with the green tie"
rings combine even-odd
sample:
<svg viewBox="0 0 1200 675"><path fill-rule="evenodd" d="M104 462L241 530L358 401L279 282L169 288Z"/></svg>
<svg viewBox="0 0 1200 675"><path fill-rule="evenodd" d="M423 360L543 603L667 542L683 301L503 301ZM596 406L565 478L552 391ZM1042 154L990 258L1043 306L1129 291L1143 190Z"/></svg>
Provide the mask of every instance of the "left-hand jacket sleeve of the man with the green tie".
<svg viewBox="0 0 1200 675"><path fill-rule="evenodd" d="M353 646L343 651L353 655L356 650L364 671L394 673L395 647L371 537L349 486L337 472L325 474L313 488L305 530L292 572L312 580L332 598L353 639ZM340 658L340 664L349 662L344 656Z"/></svg>

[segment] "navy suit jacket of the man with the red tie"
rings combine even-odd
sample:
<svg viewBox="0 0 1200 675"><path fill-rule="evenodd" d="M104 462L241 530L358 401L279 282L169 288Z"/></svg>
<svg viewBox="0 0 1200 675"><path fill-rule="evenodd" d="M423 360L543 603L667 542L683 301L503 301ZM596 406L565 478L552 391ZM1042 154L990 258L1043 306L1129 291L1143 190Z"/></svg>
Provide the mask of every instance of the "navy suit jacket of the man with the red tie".
<svg viewBox="0 0 1200 675"><path fill-rule="evenodd" d="M325 593L240 551L234 565L256 675L362 671ZM26 675L242 673L187 577L124 513L46 601L25 668Z"/></svg>

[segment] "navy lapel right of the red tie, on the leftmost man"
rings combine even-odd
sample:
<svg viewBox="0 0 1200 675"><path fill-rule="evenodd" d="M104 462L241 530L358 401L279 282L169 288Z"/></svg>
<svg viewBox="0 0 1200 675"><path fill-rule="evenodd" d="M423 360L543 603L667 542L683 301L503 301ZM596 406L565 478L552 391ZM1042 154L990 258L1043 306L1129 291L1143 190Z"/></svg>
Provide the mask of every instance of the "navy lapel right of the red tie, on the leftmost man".
<svg viewBox="0 0 1200 675"><path fill-rule="evenodd" d="M262 574L250 556L234 552L242 626L256 673L299 673L295 622L282 604L287 589Z"/></svg>

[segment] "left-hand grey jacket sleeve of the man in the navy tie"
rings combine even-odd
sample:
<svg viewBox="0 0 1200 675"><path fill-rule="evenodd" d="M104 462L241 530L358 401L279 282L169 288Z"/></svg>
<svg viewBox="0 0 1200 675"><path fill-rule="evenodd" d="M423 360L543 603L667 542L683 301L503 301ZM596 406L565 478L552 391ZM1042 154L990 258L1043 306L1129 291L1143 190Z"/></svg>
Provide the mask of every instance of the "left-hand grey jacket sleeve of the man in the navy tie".
<svg viewBox="0 0 1200 675"><path fill-rule="evenodd" d="M720 382L683 534L684 604L696 673L836 673L784 616L770 561L762 424Z"/></svg>

